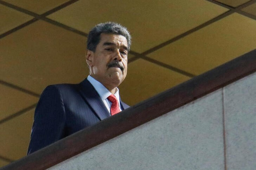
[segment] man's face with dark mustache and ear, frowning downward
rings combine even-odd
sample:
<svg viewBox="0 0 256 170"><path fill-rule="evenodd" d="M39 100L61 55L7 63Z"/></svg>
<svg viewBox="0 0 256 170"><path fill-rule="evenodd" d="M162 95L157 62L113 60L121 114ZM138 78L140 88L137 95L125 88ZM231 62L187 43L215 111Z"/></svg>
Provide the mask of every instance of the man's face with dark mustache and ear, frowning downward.
<svg viewBox="0 0 256 170"><path fill-rule="evenodd" d="M128 43L124 36L101 34L95 52L87 51L90 75L106 88L117 87L127 74Z"/></svg>

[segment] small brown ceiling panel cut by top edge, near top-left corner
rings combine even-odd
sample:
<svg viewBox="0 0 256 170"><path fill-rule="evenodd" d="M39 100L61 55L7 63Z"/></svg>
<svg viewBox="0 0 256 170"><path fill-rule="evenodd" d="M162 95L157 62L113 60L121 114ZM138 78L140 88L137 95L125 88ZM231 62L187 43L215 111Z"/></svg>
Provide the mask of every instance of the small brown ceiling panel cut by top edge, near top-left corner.
<svg viewBox="0 0 256 170"><path fill-rule="evenodd" d="M59 5L64 4L69 0L43 0L43 1L31 1L31 0L4 0L9 4L27 9L28 11L43 14Z"/></svg>

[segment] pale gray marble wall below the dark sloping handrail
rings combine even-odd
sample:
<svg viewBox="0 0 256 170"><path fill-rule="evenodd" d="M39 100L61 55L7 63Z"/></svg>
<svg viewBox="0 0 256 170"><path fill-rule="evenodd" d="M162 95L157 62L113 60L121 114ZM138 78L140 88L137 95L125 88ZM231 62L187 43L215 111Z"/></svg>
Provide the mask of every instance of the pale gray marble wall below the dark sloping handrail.
<svg viewBox="0 0 256 170"><path fill-rule="evenodd" d="M256 73L50 169L254 169L255 84Z"/></svg>

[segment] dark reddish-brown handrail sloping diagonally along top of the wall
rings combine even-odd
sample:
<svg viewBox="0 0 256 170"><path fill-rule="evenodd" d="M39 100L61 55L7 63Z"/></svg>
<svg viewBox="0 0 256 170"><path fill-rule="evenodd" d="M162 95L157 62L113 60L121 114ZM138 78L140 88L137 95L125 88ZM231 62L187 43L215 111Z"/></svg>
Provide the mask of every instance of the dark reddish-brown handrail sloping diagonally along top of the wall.
<svg viewBox="0 0 256 170"><path fill-rule="evenodd" d="M49 168L254 72L256 72L256 49L80 130L0 170Z"/></svg>

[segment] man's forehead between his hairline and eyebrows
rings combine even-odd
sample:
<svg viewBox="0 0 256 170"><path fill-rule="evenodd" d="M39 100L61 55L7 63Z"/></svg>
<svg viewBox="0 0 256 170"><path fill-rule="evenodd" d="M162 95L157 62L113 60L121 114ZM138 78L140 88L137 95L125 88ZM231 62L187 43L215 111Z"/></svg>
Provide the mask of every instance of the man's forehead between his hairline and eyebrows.
<svg viewBox="0 0 256 170"><path fill-rule="evenodd" d="M128 46L127 39L123 35L101 33L99 44L103 45L105 42L114 43L119 46Z"/></svg>

